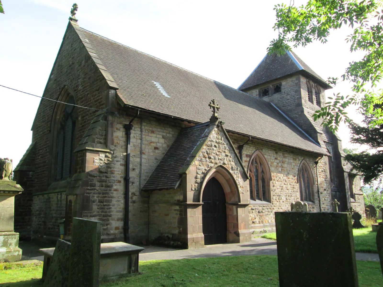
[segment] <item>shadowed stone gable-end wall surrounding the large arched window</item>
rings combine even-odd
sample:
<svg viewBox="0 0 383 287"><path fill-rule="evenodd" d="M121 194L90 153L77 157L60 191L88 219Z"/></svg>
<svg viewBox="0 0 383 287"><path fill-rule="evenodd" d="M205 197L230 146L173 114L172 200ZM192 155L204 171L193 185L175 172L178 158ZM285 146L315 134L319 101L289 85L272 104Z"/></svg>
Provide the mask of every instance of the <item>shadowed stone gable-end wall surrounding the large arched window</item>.
<svg viewBox="0 0 383 287"><path fill-rule="evenodd" d="M76 104L96 109L105 108L103 92L109 90L109 87L71 25L67 29L52 68L44 91L44 98L57 100L65 85L74 91ZM38 237L45 233L55 234L58 237L59 224L57 220L64 219L64 214L61 211L57 213L59 216L44 214L45 210L53 208L52 205L56 210L65 210L65 200L56 201L57 194L42 195L48 191L52 183L50 171L53 165L51 155L53 130L51 130L51 123L55 105L56 103L53 101L42 99L32 128L33 141L35 141L32 237ZM79 143L96 113L97 111L90 109L77 110L76 143ZM51 199L47 200L47 198ZM16 217L23 212L25 212L23 208L18 210ZM56 228L55 232L51 231L53 228Z"/></svg>

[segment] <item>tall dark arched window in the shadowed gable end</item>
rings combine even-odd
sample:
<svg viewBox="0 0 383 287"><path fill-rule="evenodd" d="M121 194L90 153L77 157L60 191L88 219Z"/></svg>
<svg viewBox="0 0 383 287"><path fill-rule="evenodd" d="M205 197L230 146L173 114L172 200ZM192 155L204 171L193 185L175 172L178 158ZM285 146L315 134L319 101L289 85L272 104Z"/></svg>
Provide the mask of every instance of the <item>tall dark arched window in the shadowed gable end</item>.
<svg viewBox="0 0 383 287"><path fill-rule="evenodd" d="M66 101L74 104L73 96ZM74 138L76 127L75 107L65 105L59 122L56 141L56 180L68 178L74 173Z"/></svg>

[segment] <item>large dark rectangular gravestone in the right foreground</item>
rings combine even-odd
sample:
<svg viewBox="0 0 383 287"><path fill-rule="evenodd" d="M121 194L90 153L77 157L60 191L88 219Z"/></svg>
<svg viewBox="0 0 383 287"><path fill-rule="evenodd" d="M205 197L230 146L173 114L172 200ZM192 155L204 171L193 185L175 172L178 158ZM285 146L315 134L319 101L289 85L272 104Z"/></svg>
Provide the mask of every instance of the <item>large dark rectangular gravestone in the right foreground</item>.
<svg viewBox="0 0 383 287"><path fill-rule="evenodd" d="M358 286L351 215L275 212L279 286Z"/></svg>

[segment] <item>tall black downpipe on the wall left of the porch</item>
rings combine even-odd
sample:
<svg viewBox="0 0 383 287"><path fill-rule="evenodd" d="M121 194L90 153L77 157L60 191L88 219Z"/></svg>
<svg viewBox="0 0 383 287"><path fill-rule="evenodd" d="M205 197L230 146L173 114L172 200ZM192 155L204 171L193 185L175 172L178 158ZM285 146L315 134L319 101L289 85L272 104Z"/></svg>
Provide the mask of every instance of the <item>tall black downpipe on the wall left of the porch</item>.
<svg viewBox="0 0 383 287"><path fill-rule="evenodd" d="M124 219L124 240L129 243L129 187L130 187L130 136L132 134L133 124L132 122L139 114L137 111L136 116L131 119L129 124L125 124L126 130L126 165L125 165L125 219Z"/></svg>

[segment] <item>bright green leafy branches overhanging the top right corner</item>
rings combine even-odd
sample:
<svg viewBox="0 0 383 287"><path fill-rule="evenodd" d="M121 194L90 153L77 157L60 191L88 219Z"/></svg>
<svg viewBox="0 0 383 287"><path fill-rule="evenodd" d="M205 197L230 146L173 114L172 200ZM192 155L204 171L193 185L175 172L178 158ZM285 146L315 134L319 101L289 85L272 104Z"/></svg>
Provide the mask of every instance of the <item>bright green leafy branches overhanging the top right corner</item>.
<svg viewBox="0 0 383 287"><path fill-rule="evenodd" d="M291 3L291 2L290 2ZM336 131L340 122L349 118L344 111L350 105L371 116L369 126L383 124L383 90L373 91L383 72L383 9L381 0L309 0L306 6L275 5L278 38L268 47L269 53L284 54L293 47L306 46L313 41L327 42L332 30L348 25L354 32L347 36L350 51L363 51L360 61L350 62L340 81L352 83L352 95L337 95L314 113L314 120L323 118L322 125ZM328 79L336 85L338 77ZM370 88L368 88L370 86Z"/></svg>

